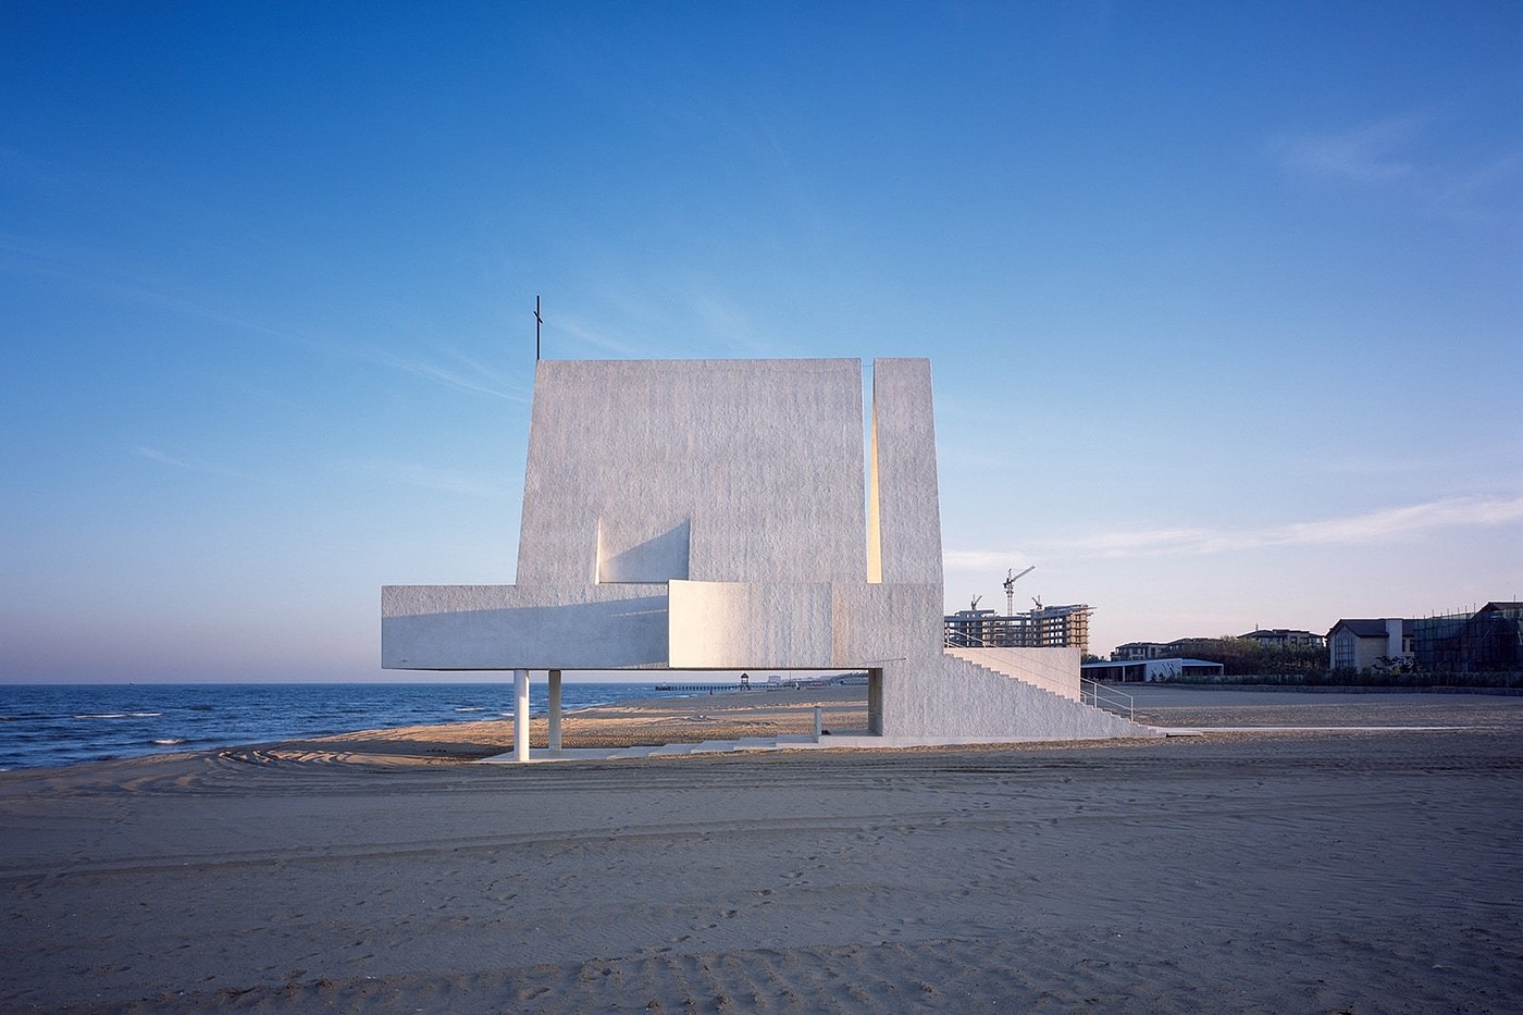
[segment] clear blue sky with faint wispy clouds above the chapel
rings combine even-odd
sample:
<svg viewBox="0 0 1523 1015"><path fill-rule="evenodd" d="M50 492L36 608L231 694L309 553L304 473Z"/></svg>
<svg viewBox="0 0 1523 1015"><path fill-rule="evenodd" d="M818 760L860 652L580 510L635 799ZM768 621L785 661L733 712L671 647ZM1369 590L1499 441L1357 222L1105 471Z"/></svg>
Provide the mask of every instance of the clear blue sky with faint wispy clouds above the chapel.
<svg viewBox="0 0 1523 1015"><path fill-rule="evenodd" d="M366 680L545 355L929 357L947 607L1523 599L1517 3L8 3L0 681Z"/></svg>

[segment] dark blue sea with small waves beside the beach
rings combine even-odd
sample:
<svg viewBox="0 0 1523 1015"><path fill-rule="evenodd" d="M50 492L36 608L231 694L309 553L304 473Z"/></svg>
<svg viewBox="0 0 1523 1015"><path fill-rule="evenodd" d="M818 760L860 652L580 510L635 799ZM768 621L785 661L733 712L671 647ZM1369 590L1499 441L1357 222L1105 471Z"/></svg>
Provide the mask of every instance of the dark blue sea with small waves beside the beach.
<svg viewBox="0 0 1523 1015"><path fill-rule="evenodd" d="M562 683L564 709L693 690ZM530 681L528 710L548 710ZM3 684L0 771L513 715L513 684Z"/></svg>

